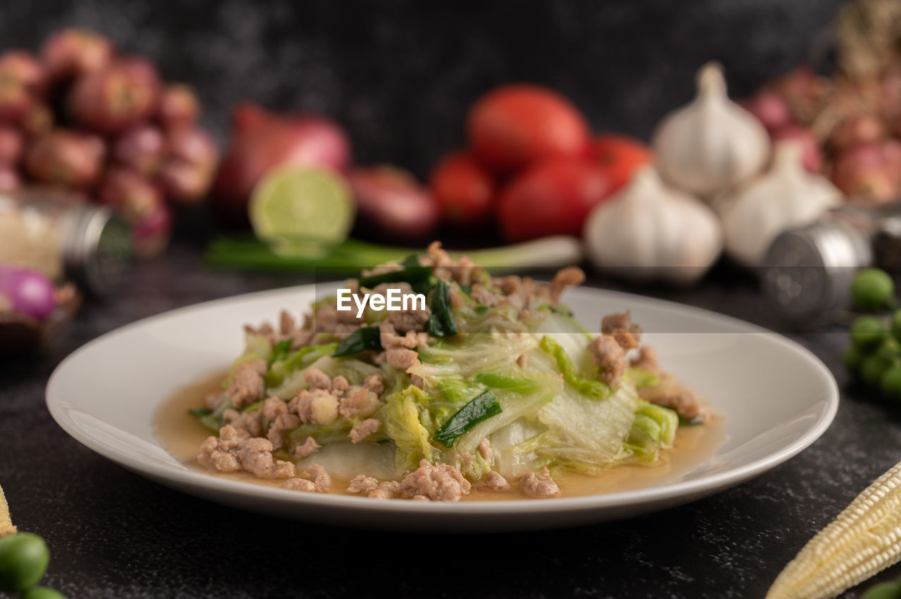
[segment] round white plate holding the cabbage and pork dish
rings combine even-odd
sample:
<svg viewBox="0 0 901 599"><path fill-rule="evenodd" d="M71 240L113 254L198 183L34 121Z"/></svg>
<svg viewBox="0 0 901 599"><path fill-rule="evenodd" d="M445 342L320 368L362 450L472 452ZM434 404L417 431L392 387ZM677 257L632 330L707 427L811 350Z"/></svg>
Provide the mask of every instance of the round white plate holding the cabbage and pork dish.
<svg viewBox="0 0 901 599"><path fill-rule="evenodd" d="M319 286L328 291L331 286ZM181 308L123 326L59 365L50 414L68 434L128 469L192 495L266 514L352 526L429 530L537 529L595 523L683 504L788 460L824 433L838 389L824 364L786 338L696 308L596 289L568 292L587 325L632 309L669 371L726 415L728 441L659 487L546 500L378 501L299 493L187 469L154 437L159 403L241 352L244 323L271 320L314 299L314 286L264 291ZM592 326L593 328L594 326Z"/></svg>

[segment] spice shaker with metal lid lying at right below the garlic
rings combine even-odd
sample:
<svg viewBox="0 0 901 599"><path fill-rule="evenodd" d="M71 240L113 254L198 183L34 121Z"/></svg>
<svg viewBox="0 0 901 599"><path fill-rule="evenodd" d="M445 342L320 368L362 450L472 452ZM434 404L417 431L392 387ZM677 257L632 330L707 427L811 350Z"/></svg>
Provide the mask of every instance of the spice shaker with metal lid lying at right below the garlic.
<svg viewBox="0 0 901 599"><path fill-rule="evenodd" d="M851 281L864 266L901 267L901 202L845 205L787 230L760 267L764 295L778 315L814 325L851 305Z"/></svg>

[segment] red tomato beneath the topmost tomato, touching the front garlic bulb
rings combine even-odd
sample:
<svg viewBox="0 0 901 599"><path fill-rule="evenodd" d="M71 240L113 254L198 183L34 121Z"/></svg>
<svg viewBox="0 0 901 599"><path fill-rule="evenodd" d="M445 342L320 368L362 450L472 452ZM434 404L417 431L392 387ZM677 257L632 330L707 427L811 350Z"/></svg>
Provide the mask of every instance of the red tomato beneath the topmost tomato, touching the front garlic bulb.
<svg viewBox="0 0 901 599"><path fill-rule="evenodd" d="M514 178L501 194L501 228L510 241L579 236L588 212L611 193L610 178L587 160L542 162Z"/></svg>

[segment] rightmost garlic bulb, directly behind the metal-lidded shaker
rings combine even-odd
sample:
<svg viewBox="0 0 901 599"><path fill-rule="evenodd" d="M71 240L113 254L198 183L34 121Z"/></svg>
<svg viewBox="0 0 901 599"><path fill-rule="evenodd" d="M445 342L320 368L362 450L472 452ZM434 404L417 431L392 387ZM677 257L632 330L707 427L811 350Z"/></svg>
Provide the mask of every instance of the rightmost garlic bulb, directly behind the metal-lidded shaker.
<svg viewBox="0 0 901 599"><path fill-rule="evenodd" d="M818 219L842 200L832 183L805 171L795 141L776 145L769 172L723 202L726 251L735 260L760 266L779 233Z"/></svg>

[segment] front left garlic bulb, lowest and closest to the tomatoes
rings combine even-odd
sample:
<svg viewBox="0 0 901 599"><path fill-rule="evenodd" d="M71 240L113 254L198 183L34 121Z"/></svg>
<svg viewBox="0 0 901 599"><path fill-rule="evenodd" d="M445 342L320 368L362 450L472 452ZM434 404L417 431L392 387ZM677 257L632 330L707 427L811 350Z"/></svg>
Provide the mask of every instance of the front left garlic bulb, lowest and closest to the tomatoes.
<svg viewBox="0 0 901 599"><path fill-rule="evenodd" d="M652 166L588 215L587 253L597 266L633 279L699 279L723 248L713 210L660 181Z"/></svg>

